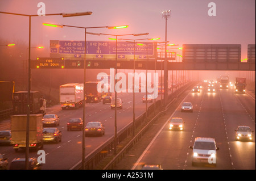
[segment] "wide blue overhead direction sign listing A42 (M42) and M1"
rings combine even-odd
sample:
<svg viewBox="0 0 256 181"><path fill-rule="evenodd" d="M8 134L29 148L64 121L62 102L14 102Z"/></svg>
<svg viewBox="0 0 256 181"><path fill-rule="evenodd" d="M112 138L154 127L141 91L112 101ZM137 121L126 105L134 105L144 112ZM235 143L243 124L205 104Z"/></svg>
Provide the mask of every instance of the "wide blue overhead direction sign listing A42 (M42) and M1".
<svg viewBox="0 0 256 181"><path fill-rule="evenodd" d="M55 41L56 40L51 40ZM84 41L66 41L59 40L59 44L51 43L51 53L59 53L59 54L84 54ZM56 47L58 50L56 50ZM117 45L115 41L86 41L86 54L117 54L127 55L127 54L154 54L154 46L153 43L146 42L144 45L137 45L128 42L119 41Z"/></svg>

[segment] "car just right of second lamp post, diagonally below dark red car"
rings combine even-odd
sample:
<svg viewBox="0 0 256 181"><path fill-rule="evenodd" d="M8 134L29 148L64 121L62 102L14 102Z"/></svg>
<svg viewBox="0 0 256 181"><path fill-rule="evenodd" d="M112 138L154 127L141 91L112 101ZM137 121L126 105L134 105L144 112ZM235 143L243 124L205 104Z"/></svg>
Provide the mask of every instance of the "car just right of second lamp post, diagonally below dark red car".
<svg viewBox="0 0 256 181"><path fill-rule="evenodd" d="M105 127L100 121L90 121L85 127L85 136L98 134L103 136L105 134Z"/></svg>

